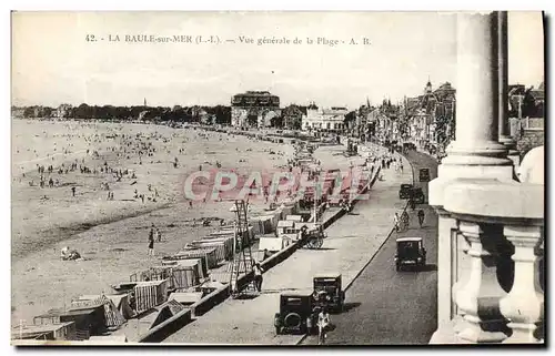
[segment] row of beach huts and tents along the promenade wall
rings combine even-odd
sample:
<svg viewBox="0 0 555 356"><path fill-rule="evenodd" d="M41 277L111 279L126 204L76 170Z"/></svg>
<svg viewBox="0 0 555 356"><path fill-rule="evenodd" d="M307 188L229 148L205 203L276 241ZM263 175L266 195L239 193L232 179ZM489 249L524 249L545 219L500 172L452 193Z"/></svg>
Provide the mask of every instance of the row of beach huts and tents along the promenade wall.
<svg viewBox="0 0 555 356"><path fill-rule="evenodd" d="M296 150L296 162L313 169L313 150ZM297 236L302 225L313 221L312 211L300 208L300 199L285 199L270 208L249 208L249 228L238 246L259 252L259 261L285 248ZM151 329L183 312L222 284L229 283L234 227L223 226L204 237L188 243L181 251L164 256L159 266L139 271L129 281L113 285L111 294L81 295L65 308L38 315L30 325L12 328L13 340L91 340L124 343L121 327L140 318ZM214 272L214 273L212 273Z"/></svg>

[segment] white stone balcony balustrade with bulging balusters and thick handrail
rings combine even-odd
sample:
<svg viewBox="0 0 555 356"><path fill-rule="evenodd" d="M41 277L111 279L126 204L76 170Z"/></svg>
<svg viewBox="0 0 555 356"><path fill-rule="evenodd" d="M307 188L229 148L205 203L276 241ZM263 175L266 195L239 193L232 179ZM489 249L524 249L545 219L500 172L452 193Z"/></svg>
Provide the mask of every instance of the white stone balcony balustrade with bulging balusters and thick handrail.
<svg viewBox="0 0 555 356"><path fill-rule="evenodd" d="M542 343L544 186L457 180L445 196L456 221L455 342Z"/></svg>

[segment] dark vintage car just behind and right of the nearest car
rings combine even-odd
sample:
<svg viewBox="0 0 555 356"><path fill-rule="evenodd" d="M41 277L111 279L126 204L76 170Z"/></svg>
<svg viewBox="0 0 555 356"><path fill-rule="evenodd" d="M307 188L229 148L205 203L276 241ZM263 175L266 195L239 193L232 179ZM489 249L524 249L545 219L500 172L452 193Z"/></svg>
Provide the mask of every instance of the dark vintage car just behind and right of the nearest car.
<svg viewBox="0 0 555 356"><path fill-rule="evenodd" d="M314 276L313 297L314 306L325 307L330 312L341 313L345 302L345 292L342 289L341 274L326 273Z"/></svg>

